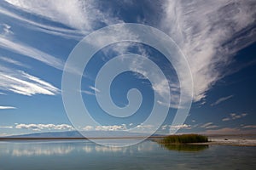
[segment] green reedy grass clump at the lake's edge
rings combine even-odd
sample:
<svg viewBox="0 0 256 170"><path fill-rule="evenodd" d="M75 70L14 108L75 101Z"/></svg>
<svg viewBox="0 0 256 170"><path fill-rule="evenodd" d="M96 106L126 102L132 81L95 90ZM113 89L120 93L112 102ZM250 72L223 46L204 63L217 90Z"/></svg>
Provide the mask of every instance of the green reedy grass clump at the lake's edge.
<svg viewBox="0 0 256 170"><path fill-rule="evenodd" d="M170 135L160 140L161 144L189 144L205 142L208 142L208 138L200 134Z"/></svg>

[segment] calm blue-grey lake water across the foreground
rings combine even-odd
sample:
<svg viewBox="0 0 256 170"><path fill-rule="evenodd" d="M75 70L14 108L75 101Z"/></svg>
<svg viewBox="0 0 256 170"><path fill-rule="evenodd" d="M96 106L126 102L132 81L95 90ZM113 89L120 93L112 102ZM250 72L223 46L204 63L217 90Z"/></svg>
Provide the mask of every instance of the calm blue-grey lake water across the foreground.
<svg viewBox="0 0 256 170"><path fill-rule="evenodd" d="M124 148L88 140L1 141L0 169L255 169L256 147L162 146Z"/></svg>

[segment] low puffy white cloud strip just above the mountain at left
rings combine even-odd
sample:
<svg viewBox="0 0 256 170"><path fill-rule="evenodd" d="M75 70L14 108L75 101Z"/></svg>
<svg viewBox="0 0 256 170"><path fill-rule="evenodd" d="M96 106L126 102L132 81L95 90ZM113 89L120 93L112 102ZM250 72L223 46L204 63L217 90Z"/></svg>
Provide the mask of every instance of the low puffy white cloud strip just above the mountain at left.
<svg viewBox="0 0 256 170"><path fill-rule="evenodd" d="M32 129L33 131L40 130L73 130L74 127L67 124L16 124L15 128L18 129Z"/></svg>

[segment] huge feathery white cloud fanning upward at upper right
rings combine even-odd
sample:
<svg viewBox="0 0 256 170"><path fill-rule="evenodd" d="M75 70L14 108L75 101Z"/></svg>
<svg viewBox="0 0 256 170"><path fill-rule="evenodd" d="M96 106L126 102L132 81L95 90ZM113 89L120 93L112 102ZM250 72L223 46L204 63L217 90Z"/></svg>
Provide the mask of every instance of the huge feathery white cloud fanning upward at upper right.
<svg viewBox="0 0 256 170"><path fill-rule="evenodd" d="M161 28L168 32L189 60L195 101L226 74L232 55L255 42L254 10L248 1L166 1ZM188 84L190 86L190 84Z"/></svg>

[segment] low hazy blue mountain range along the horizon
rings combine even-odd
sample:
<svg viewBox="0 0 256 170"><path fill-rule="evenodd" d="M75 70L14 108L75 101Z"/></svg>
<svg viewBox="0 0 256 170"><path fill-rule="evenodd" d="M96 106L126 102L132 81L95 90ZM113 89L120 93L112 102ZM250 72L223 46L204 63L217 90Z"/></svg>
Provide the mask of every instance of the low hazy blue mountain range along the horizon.
<svg viewBox="0 0 256 170"><path fill-rule="evenodd" d="M132 138L132 137L145 137L147 133L129 133L126 131L84 131L84 136L87 138ZM47 133L29 133L21 135L13 135L5 138L84 138L78 131L67 132L47 132ZM152 136L160 136L154 134Z"/></svg>

